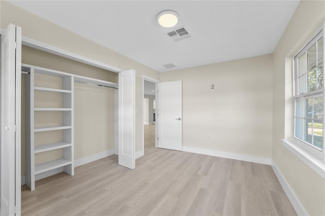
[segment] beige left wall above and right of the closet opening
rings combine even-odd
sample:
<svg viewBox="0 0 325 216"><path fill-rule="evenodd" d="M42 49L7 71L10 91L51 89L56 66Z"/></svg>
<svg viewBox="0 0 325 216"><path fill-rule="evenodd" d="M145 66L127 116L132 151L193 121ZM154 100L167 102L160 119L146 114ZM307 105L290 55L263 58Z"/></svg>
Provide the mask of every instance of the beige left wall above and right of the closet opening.
<svg viewBox="0 0 325 216"><path fill-rule="evenodd" d="M158 71L113 50L96 44L72 31L1 1L1 27L9 23L22 27L25 37L67 50L123 70L136 70L136 151L142 150L142 75L159 80ZM87 28L87 26L85 26ZM107 40L110 40L107 38Z"/></svg>

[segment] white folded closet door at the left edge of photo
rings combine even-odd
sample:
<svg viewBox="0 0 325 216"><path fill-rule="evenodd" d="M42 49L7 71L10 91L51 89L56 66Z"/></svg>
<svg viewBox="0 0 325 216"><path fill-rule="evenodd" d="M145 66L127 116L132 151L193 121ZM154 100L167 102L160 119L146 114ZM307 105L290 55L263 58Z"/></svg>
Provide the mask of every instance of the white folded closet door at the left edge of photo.
<svg viewBox="0 0 325 216"><path fill-rule="evenodd" d="M20 215L21 28L1 33L0 214Z"/></svg>

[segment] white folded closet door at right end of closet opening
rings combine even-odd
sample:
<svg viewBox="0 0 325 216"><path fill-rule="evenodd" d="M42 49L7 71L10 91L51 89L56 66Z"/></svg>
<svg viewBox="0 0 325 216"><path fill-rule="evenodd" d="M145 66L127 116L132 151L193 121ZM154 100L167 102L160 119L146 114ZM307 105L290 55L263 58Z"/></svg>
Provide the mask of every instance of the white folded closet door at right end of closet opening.
<svg viewBox="0 0 325 216"><path fill-rule="evenodd" d="M118 74L118 164L134 169L135 160L135 70L126 70Z"/></svg>

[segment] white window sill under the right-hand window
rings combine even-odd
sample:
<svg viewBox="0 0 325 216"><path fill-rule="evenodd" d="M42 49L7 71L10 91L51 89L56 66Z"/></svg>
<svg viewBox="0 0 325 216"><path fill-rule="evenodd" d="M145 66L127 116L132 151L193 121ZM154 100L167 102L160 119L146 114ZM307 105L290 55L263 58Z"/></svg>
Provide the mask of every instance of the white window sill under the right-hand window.
<svg viewBox="0 0 325 216"><path fill-rule="evenodd" d="M308 151L300 143L291 139L282 139L282 146L296 155L307 166L314 170L318 175L325 179L325 161L318 155Z"/></svg>

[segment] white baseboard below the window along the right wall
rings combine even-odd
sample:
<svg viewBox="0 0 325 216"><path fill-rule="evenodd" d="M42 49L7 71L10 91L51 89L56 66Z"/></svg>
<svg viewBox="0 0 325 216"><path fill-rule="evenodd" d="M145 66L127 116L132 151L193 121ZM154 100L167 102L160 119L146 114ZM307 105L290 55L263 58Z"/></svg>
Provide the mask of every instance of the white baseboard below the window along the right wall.
<svg viewBox="0 0 325 216"><path fill-rule="evenodd" d="M271 166L272 166L272 168L273 168L273 170L275 172L275 175L278 177L279 182L280 182L285 194L289 198L291 204L293 204L297 214L298 215L308 215L306 209L301 204L301 202L299 201L299 199L296 196L295 192L293 191L293 189L291 189L289 183L286 181L286 179L284 178L281 171L279 170L279 168L277 167L277 165L274 163L273 160L272 160Z"/></svg>

